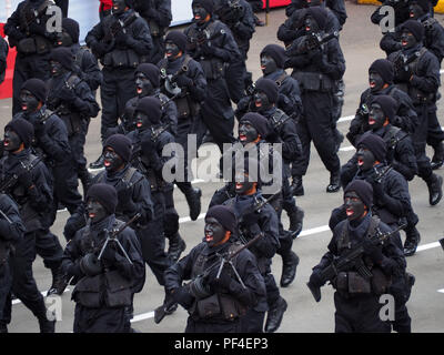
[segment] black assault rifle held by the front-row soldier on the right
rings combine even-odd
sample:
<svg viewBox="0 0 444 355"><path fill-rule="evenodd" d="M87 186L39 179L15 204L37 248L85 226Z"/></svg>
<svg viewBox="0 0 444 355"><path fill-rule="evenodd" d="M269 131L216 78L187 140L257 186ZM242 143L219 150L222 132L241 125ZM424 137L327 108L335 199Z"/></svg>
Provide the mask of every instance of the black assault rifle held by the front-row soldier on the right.
<svg viewBox="0 0 444 355"><path fill-rule="evenodd" d="M379 229L376 229L376 233L370 236L370 241L374 245L383 244L384 241L389 240L393 234L400 232L405 229L406 224L403 224L395 229L394 231L382 233ZM337 276L339 273L343 271L356 270L357 273L369 280L373 276L372 272L365 266L363 261L364 254L364 242L359 243L355 247L349 250L342 256L334 256L332 263L321 271L321 280L323 283L331 282L333 278ZM309 286L314 300L316 302L321 301L321 288L314 286L310 282L306 283Z"/></svg>

